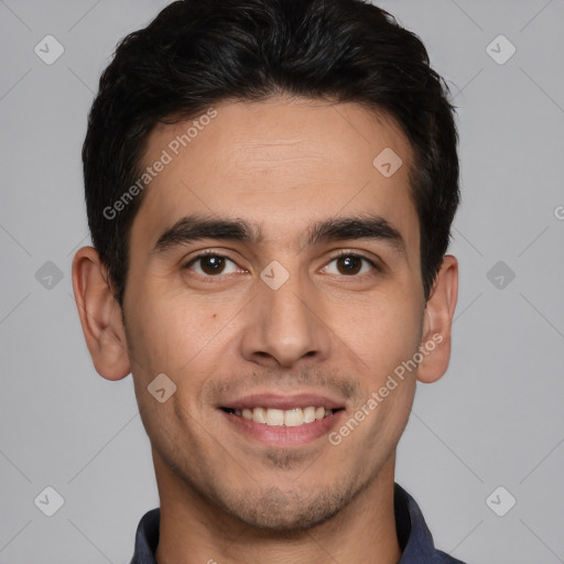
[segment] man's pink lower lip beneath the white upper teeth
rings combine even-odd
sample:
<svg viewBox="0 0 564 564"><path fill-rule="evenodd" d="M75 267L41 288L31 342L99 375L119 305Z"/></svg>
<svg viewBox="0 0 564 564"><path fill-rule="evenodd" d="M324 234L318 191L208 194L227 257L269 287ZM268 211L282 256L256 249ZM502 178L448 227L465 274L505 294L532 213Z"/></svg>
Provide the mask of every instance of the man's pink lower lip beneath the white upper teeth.
<svg viewBox="0 0 564 564"><path fill-rule="evenodd" d="M295 427L286 427L285 425L267 425L265 423L257 423L252 420L227 413L220 410L227 421L234 425L240 433L251 436L261 443L271 446L302 445L311 443L316 438L329 433L329 431L338 424L344 411L336 411L332 415L315 420L313 423L304 423Z"/></svg>

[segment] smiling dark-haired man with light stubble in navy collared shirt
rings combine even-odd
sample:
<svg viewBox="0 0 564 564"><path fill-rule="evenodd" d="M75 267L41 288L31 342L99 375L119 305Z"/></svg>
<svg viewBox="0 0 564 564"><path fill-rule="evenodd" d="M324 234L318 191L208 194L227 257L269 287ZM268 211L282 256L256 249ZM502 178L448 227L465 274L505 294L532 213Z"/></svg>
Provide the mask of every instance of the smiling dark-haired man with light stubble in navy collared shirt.
<svg viewBox="0 0 564 564"><path fill-rule="evenodd" d="M73 284L151 441L132 563L459 562L394 485L449 359L456 143L420 40L360 0L180 1L119 45Z"/></svg>

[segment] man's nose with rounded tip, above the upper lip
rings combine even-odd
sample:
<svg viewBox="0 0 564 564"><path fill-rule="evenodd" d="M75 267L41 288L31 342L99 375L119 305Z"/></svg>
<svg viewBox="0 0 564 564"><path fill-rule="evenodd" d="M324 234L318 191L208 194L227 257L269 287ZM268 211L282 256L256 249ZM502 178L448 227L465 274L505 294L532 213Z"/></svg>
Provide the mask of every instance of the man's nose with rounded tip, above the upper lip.
<svg viewBox="0 0 564 564"><path fill-rule="evenodd" d="M247 310L243 357L274 368L291 368L305 359L325 360L332 332L324 322L322 294L297 272L278 289L263 280L257 285Z"/></svg>

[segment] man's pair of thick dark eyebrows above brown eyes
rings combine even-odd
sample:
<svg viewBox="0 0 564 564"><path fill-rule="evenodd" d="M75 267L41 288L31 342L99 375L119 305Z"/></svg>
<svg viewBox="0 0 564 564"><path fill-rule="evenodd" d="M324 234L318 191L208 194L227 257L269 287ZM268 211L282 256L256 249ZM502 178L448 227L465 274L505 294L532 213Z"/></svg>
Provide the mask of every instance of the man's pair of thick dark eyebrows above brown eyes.
<svg viewBox="0 0 564 564"><path fill-rule="evenodd" d="M328 218L315 223L308 232L305 248L328 241L373 239L384 241L406 254L405 240L400 231L380 216ZM250 225L241 219L213 219L191 215L178 219L167 228L159 237L151 252L161 253L202 239L223 239L258 245L264 240L264 235L259 226Z"/></svg>

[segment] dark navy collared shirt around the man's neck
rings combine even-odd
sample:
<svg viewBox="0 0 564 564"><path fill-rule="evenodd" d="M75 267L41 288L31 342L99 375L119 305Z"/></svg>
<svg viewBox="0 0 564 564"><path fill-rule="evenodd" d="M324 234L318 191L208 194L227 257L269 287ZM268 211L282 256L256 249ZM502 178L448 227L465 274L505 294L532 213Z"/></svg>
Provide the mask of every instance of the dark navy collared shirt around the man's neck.
<svg viewBox="0 0 564 564"><path fill-rule="evenodd" d="M438 551L433 544L423 513L415 500L398 484L394 486L394 513L402 556L398 564L464 564ZM148 511L137 529L135 551L130 564L156 564L161 510Z"/></svg>

